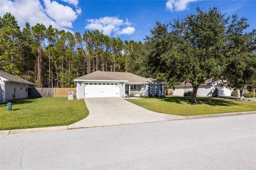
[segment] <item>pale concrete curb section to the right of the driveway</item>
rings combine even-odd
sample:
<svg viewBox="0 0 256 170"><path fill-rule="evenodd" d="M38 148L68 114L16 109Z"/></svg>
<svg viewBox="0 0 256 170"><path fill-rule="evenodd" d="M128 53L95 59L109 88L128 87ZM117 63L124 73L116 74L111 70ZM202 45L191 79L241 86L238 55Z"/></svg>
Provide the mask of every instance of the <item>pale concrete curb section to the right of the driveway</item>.
<svg viewBox="0 0 256 170"><path fill-rule="evenodd" d="M197 119L197 118L224 117L224 116L236 116L236 115L248 115L248 114L256 114L256 111L186 116L187 117L186 119L188 120L188 119Z"/></svg>

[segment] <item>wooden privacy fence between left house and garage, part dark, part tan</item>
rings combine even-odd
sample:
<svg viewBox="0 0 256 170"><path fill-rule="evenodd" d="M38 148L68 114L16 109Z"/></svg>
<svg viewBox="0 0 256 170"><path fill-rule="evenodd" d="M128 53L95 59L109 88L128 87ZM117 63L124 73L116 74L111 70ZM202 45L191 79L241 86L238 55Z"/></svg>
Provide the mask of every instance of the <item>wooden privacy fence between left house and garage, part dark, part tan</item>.
<svg viewBox="0 0 256 170"><path fill-rule="evenodd" d="M69 91L76 96L76 88L28 88L28 97L68 97Z"/></svg>

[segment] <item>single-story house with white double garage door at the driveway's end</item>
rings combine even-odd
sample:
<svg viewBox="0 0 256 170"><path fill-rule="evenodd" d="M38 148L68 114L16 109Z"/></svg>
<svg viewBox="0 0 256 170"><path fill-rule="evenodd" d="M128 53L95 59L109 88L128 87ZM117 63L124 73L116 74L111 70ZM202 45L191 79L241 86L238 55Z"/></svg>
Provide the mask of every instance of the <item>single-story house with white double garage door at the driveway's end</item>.
<svg viewBox="0 0 256 170"><path fill-rule="evenodd" d="M76 78L77 98L163 95L163 82L128 72L95 71Z"/></svg>

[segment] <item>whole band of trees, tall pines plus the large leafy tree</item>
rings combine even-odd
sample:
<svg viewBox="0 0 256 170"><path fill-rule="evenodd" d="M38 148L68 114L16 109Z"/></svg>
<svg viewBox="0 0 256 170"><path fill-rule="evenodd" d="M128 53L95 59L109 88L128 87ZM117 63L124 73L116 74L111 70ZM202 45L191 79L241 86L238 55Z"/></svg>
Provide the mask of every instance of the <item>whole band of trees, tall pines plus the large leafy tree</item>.
<svg viewBox="0 0 256 170"><path fill-rule="evenodd" d="M206 79L239 89L256 85L256 30L237 15L211 7L169 23L156 22L145 42L122 41L100 31L83 35L43 24L20 30L10 13L0 18L0 69L38 87L73 87L73 80L101 71L131 72L163 80L169 86L182 81L193 86L196 103L199 84Z"/></svg>

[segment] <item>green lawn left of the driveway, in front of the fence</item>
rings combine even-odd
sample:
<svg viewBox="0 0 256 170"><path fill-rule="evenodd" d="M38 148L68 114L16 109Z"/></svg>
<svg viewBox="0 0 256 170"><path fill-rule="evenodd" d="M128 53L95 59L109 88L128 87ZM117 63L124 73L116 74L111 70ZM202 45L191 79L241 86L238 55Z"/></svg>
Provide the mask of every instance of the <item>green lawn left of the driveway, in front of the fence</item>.
<svg viewBox="0 0 256 170"><path fill-rule="evenodd" d="M0 130L69 125L89 114L84 100L36 98L11 102L13 111L7 111L7 104L0 106Z"/></svg>

